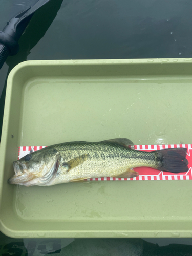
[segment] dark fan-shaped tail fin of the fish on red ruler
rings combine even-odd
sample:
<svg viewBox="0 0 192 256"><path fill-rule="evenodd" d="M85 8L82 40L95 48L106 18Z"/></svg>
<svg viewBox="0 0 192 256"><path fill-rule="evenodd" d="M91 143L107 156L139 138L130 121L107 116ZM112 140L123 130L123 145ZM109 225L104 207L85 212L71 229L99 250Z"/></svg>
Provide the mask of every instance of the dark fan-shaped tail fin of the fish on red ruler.
<svg viewBox="0 0 192 256"><path fill-rule="evenodd" d="M154 151L157 169L170 173L185 173L188 171L186 148L168 148Z"/></svg>

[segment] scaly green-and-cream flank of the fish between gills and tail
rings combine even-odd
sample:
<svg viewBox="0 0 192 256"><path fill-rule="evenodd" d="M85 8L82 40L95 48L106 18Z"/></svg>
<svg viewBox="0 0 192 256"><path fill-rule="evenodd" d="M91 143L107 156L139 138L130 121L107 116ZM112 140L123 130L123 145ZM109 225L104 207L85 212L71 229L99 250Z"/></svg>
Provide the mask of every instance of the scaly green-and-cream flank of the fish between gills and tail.
<svg viewBox="0 0 192 256"><path fill-rule="evenodd" d="M88 158L70 172L58 172L55 183L67 179L117 177L127 169L149 166L157 167L154 153L131 150L113 142L71 142L51 146L59 151L65 162L79 155L88 154Z"/></svg>

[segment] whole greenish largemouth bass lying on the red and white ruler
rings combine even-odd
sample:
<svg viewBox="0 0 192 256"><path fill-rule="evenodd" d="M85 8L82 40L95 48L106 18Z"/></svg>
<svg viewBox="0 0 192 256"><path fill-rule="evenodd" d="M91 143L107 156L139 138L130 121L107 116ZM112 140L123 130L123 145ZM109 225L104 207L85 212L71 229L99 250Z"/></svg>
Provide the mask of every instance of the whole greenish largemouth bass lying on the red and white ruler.
<svg viewBox="0 0 192 256"><path fill-rule="evenodd" d="M14 161L15 174L8 183L51 186L99 177L133 178L139 173L132 168L142 166L171 173L188 171L186 148L146 152L134 150L133 145L126 138L51 145Z"/></svg>

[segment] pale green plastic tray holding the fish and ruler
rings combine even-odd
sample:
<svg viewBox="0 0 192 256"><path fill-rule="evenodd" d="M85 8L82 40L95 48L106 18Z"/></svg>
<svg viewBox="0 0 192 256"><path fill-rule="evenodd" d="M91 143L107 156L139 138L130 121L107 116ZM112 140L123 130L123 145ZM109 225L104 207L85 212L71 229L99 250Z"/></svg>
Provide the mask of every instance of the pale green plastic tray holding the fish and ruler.
<svg viewBox="0 0 192 256"><path fill-rule="evenodd" d="M7 82L0 149L0 230L20 238L191 237L191 180L7 183L18 146L112 138L191 144L191 60L17 65Z"/></svg>

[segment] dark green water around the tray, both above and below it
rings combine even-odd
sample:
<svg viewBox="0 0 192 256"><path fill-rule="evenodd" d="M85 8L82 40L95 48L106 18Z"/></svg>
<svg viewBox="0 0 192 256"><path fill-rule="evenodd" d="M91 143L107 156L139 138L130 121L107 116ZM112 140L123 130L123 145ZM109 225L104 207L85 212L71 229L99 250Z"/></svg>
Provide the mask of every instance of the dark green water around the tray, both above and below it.
<svg viewBox="0 0 192 256"><path fill-rule="evenodd" d="M34 2L0 0L0 30L12 15ZM0 127L6 79L19 62L192 57L191 8L190 0L51 0L34 14L19 40L19 53L0 70ZM0 255L48 253L192 255L192 238L23 240L0 236Z"/></svg>

